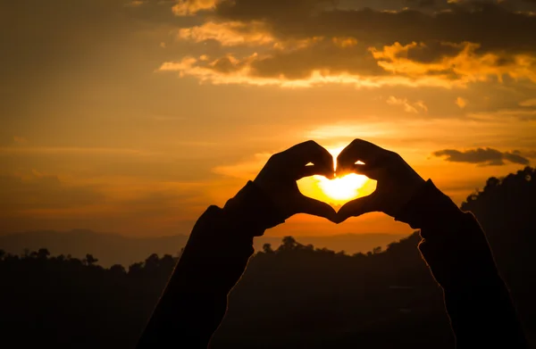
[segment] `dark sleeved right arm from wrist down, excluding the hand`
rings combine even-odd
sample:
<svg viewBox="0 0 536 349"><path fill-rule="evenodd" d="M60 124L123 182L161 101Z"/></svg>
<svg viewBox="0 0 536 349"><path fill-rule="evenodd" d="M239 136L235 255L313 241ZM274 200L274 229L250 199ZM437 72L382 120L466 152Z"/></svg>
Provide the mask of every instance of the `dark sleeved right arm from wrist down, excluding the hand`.
<svg viewBox="0 0 536 349"><path fill-rule="evenodd" d="M481 226L428 180L396 220L421 229L419 250L444 291L456 348L528 348Z"/></svg>

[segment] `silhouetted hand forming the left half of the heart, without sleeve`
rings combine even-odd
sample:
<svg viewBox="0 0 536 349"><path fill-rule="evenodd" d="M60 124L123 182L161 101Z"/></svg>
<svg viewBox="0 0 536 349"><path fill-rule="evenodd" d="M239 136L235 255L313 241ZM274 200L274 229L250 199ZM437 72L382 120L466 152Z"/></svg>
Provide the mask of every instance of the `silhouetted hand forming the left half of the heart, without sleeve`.
<svg viewBox="0 0 536 349"><path fill-rule="evenodd" d="M309 162L313 165L307 166ZM308 213L335 221L337 212L329 204L302 195L297 187L298 179L313 175L333 178L333 156L316 142L307 141L272 155L254 182L285 219L296 213Z"/></svg>

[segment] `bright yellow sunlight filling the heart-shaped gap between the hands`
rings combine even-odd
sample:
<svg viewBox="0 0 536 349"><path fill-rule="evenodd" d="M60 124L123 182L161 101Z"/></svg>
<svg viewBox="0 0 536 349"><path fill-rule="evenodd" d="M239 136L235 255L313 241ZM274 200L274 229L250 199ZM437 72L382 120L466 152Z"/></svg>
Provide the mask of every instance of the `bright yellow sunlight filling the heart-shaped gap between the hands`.
<svg viewBox="0 0 536 349"><path fill-rule="evenodd" d="M337 170L337 155L344 147L328 149L335 159ZM313 176L297 181L297 187L303 195L321 200L334 207L339 207L357 197L370 195L376 189L376 181L355 173L347 176L327 179L323 176Z"/></svg>

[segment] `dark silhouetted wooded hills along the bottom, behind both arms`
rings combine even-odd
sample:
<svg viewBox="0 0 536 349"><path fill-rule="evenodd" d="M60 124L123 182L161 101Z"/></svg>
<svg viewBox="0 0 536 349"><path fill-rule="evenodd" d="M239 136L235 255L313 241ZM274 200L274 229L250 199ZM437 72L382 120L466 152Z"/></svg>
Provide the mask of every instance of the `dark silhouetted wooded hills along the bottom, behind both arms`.
<svg viewBox="0 0 536 349"><path fill-rule="evenodd" d="M535 170L489 179L462 205L490 239L523 325L536 337ZM230 295L214 348L453 348L440 288L414 233L385 251L348 255L285 237L264 245ZM0 252L0 346L130 348L178 257L123 268ZM180 347L177 338L176 347Z"/></svg>

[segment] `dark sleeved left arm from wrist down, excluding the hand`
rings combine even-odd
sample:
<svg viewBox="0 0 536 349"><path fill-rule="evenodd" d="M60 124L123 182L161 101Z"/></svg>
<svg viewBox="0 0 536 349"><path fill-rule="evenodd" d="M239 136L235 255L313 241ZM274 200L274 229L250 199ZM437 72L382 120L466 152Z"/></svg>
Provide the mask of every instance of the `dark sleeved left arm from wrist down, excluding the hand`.
<svg viewBox="0 0 536 349"><path fill-rule="evenodd" d="M138 349L206 348L227 310L227 295L254 253L253 238L284 222L253 182L223 208L197 220Z"/></svg>

